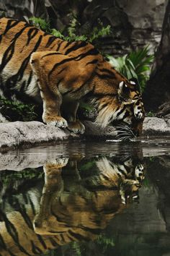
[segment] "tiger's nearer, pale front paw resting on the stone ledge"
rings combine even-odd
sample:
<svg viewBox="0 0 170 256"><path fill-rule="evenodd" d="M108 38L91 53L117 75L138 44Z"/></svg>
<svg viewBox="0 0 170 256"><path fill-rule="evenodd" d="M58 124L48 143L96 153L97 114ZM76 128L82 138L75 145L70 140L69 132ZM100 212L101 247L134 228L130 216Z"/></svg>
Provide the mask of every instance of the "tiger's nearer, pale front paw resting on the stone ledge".
<svg viewBox="0 0 170 256"><path fill-rule="evenodd" d="M53 127L68 127L68 122L62 116L42 116L42 120L45 124L52 125Z"/></svg>

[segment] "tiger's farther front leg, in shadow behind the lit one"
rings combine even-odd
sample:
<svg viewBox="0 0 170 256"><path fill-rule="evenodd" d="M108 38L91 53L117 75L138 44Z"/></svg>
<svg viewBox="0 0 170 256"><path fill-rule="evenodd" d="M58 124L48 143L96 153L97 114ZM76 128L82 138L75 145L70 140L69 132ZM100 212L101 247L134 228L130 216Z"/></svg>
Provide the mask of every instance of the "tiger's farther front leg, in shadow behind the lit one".
<svg viewBox="0 0 170 256"><path fill-rule="evenodd" d="M84 134L85 127L78 119L76 119L76 112L79 108L79 102L77 101L64 101L63 113L68 120L68 129L75 134Z"/></svg>

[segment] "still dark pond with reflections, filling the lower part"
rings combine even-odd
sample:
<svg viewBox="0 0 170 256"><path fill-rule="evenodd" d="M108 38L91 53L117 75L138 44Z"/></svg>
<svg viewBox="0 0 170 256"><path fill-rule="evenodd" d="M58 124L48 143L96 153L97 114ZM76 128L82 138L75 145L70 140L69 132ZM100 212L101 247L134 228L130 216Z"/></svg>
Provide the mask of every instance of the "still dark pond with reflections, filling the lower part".
<svg viewBox="0 0 170 256"><path fill-rule="evenodd" d="M0 255L170 255L170 140L0 155Z"/></svg>

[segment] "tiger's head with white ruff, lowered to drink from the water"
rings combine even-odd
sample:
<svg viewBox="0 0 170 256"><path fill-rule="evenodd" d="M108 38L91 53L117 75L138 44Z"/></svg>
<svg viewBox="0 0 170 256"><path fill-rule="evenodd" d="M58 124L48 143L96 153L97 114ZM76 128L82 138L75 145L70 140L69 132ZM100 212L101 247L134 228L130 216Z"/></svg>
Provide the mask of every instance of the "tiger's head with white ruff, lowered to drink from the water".
<svg viewBox="0 0 170 256"><path fill-rule="evenodd" d="M106 127L115 122L131 130L134 137L140 136L145 111L137 82L128 80L107 61L102 61L94 76L92 103L97 107L96 122Z"/></svg>

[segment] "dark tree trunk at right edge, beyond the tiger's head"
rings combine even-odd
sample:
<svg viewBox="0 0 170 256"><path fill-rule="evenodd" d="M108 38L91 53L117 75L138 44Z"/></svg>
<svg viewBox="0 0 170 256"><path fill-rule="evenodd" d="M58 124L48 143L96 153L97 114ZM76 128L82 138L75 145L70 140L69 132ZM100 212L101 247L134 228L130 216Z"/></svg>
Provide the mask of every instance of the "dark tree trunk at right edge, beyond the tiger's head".
<svg viewBox="0 0 170 256"><path fill-rule="evenodd" d="M164 16L161 42L143 100L147 111L159 111L161 115L170 113L170 0Z"/></svg>

